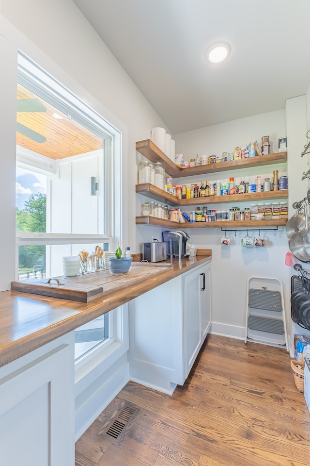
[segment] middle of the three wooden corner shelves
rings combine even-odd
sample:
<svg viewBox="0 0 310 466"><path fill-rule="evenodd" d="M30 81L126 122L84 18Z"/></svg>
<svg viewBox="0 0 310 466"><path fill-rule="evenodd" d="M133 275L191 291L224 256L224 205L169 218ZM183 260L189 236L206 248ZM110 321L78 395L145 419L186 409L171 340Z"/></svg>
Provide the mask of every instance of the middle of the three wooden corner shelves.
<svg viewBox="0 0 310 466"><path fill-rule="evenodd" d="M244 202L253 200L277 200L286 199L288 197L288 190L283 189L281 191L267 191L265 193L229 194L227 196L206 196L204 198L177 199L175 196L172 196L172 194L169 194L163 189L159 189L154 186L154 184L150 183L136 184L136 193L173 206Z"/></svg>

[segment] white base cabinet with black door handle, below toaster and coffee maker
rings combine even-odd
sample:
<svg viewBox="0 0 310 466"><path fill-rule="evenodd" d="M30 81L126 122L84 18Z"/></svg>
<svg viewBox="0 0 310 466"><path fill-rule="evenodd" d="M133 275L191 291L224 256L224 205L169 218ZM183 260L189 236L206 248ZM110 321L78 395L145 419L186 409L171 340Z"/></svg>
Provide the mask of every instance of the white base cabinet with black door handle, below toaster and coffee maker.
<svg viewBox="0 0 310 466"><path fill-rule="evenodd" d="M210 326L210 262L130 301L130 380L171 394L185 382Z"/></svg>

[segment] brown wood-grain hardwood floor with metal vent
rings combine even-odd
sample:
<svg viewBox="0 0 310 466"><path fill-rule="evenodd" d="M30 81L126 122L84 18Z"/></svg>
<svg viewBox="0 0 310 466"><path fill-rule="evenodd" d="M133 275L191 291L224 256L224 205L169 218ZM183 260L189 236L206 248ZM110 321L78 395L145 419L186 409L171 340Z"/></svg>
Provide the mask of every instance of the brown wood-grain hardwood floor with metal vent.
<svg viewBox="0 0 310 466"><path fill-rule="evenodd" d="M127 383L76 443L76 466L95 465L309 466L310 413L288 353L210 335L172 396Z"/></svg>

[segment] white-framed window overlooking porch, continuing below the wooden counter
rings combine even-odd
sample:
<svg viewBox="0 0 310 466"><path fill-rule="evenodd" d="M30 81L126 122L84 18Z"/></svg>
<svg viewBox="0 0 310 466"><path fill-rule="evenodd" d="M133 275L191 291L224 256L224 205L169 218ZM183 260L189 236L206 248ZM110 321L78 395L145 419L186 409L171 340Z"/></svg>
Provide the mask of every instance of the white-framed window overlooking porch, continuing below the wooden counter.
<svg viewBox="0 0 310 466"><path fill-rule="evenodd" d="M121 134L24 55L18 57L19 279L62 275L62 256L113 249ZM112 177L113 173L113 177ZM120 183L119 183L120 184ZM120 208L118 209L120 212ZM76 359L113 340L108 313L76 331Z"/></svg>

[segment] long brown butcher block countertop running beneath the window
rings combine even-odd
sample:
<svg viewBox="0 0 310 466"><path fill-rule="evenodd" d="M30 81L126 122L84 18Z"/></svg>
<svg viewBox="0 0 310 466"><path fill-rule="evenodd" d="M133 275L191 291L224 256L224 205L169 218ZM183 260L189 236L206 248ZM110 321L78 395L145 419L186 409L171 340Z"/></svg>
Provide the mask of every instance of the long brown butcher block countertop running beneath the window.
<svg viewBox="0 0 310 466"><path fill-rule="evenodd" d="M109 270L88 274L90 278L100 276L96 283L99 280L103 288L88 302L21 291L0 292L0 366L211 260L211 250L198 251L202 255L188 259L167 259L153 264L132 262L125 275L110 275Z"/></svg>

